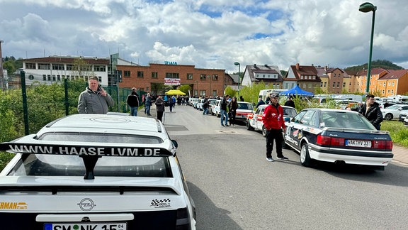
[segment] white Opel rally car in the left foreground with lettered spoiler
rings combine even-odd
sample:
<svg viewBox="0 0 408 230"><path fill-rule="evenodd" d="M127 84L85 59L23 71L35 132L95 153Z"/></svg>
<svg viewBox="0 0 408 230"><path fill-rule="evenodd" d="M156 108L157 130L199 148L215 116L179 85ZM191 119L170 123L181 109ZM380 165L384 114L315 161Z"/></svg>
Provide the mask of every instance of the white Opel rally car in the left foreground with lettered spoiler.
<svg viewBox="0 0 408 230"><path fill-rule="evenodd" d="M196 208L163 124L76 114L1 143L0 229L196 229Z"/></svg>

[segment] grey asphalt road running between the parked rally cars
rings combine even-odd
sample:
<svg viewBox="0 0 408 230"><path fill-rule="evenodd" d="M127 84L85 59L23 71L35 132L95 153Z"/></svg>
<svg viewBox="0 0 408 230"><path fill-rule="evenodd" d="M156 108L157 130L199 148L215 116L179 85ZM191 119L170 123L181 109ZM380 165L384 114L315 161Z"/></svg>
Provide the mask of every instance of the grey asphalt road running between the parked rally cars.
<svg viewBox="0 0 408 230"><path fill-rule="evenodd" d="M407 229L406 166L305 168L293 150L270 163L261 133L221 127L190 106L166 111L164 124L179 143L197 229Z"/></svg>

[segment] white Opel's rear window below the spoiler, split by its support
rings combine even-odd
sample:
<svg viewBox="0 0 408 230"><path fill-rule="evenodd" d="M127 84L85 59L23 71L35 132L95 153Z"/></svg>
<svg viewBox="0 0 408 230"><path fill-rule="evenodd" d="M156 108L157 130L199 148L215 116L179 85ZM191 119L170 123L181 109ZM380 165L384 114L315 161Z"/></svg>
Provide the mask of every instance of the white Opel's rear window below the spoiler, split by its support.
<svg viewBox="0 0 408 230"><path fill-rule="evenodd" d="M23 155L9 176L84 176L77 155ZM98 159L95 177L172 177L168 157L111 157Z"/></svg>

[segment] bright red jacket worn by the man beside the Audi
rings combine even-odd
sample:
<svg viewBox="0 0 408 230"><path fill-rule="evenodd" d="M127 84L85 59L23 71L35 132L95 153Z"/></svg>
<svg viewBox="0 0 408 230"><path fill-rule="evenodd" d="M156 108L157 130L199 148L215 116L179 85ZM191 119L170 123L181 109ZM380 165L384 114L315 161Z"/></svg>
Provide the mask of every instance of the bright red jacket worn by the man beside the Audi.
<svg viewBox="0 0 408 230"><path fill-rule="evenodd" d="M265 111L263 111L262 122L268 130L286 128L282 106L280 104L277 104L277 106L273 106L273 104L266 106Z"/></svg>

